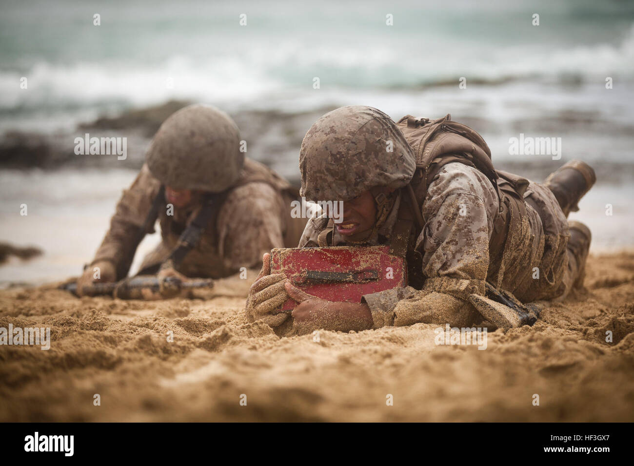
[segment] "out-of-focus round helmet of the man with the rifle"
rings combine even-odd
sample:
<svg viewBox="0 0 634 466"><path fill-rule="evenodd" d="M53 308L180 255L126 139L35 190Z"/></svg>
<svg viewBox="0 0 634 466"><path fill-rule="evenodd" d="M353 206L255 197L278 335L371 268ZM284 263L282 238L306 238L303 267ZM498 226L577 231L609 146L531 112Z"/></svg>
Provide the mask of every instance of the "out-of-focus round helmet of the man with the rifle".
<svg viewBox="0 0 634 466"><path fill-rule="evenodd" d="M166 186L217 193L240 178L244 153L229 115L210 105L188 105L163 122L145 160Z"/></svg>

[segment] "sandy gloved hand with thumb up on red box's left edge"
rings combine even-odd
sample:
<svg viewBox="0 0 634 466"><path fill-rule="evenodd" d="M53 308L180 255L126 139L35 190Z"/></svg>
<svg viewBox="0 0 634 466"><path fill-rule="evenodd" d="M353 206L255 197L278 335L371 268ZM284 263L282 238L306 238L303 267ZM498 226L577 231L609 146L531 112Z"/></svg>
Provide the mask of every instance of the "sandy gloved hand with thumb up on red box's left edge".
<svg viewBox="0 0 634 466"><path fill-rule="evenodd" d="M250 322L262 321L269 327L278 327L290 315L290 313L273 314L288 299L284 289L287 278L283 273L271 275L270 260L271 254L267 252L262 257L262 269L249 290L246 310Z"/></svg>

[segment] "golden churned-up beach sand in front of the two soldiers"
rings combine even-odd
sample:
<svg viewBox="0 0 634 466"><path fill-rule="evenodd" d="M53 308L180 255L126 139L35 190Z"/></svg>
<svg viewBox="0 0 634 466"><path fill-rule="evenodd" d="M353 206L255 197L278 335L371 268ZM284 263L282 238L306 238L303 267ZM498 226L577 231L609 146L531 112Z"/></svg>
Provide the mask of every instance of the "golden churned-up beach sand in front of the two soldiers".
<svg viewBox="0 0 634 466"><path fill-rule="evenodd" d="M634 252L591 256L586 285L484 351L427 324L280 339L245 323L239 278L164 302L9 288L0 327L52 341L0 346L0 420L634 421Z"/></svg>

